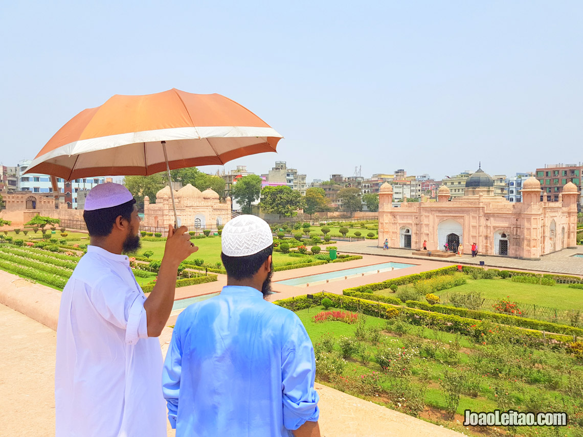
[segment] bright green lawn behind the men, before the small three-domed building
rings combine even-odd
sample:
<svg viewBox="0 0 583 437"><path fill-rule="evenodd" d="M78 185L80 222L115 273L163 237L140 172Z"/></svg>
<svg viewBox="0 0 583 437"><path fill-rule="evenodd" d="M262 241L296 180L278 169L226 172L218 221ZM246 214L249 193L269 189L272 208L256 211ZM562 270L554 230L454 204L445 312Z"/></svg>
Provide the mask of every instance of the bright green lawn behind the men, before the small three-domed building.
<svg viewBox="0 0 583 437"><path fill-rule="evenodd" d="M196 258L202 258L205 260L205 263L208 264L215 264L217 262L221 262L220 260L220 237L207 237L207 238L198 238L193 239L192 242L195 246L198 246L198 251L192 254L187 261L193 262ZM154 255L150 257L150 259L162 259L164 256L164 245L166 245L166 241L143 241L142 240L142 249L138 251L138 255L141 255L144 251L152 251ZM273 266L285 266L291 264L301 264L307 263L314 259L309 256L302 257L302 258L294 258L291 256L287 256L285 253L281 252L273 252Z"/></svg>

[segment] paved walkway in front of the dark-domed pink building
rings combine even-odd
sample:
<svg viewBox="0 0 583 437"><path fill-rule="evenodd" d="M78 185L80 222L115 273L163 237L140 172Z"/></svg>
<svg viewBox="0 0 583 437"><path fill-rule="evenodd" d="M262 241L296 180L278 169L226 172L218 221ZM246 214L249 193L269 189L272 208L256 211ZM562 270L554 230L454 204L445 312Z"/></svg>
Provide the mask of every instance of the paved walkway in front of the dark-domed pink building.
<svg viewBox="0 0 583 437"><path fill-rule="evenodd" d="M463 255L461 258L458 256L455 258L428 258L427 256L413 255L411 249L388 249L384 251L382 248L377 247L377 241L375 240L339 242L338 250L343 253L358 253L360 255L394 256L415 260L430 259L438 263L450 264L479 265L480 261L483 261L487 267L583 276L583 258L573 256L576 253L583 255L583 246L577 246L576 249L563 249L559 252L550 253L550 255L545 255L538 261L489 255L479 255L476 258L472 258L471 255Z"/></svg>

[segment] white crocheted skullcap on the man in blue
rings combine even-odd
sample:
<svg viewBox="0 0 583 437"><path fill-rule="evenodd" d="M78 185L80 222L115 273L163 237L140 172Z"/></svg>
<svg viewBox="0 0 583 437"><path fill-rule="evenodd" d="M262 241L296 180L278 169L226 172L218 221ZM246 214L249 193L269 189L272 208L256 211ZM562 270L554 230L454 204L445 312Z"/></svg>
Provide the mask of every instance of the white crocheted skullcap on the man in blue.
<svg viewBox="0 0 583 437"><path fill-rule="evenodd" d="M243 214L227 221L221 246L227 256L249 256L273 244L271 228L257 216Z"/></svg>

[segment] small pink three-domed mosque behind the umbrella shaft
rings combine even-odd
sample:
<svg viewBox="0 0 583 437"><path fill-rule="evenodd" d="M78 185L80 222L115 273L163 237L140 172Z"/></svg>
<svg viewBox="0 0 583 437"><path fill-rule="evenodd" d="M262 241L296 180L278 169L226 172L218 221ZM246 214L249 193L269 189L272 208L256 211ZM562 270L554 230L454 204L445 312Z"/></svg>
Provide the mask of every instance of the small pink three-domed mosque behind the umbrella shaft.
<svg viewBox="0 0 583 437"><path fill-rule="evenodd" d="M191 231L216 230L231 219L231 198L220 201L220 196L212 189L200 191L191 184L174 191L176 213L181 224ZM174 210L170 186L165 186L156 193L156 203L144 198L144 218L140 229L148 232L162 232L168 225L174 225Z"/></svg>

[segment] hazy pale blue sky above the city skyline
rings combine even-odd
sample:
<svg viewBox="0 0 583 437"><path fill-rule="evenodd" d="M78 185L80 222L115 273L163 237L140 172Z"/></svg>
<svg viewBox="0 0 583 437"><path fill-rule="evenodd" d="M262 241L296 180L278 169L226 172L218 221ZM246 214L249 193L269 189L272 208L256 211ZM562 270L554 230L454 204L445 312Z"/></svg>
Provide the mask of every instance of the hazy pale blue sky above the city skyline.
<svg viewBox="0 0 583 437"><path fill-rule="evenodd" d="M44 3L0 6L5 165L113 94L172 87L224 94L285 136L226 170L583 161L581 1Z"/></svg>

